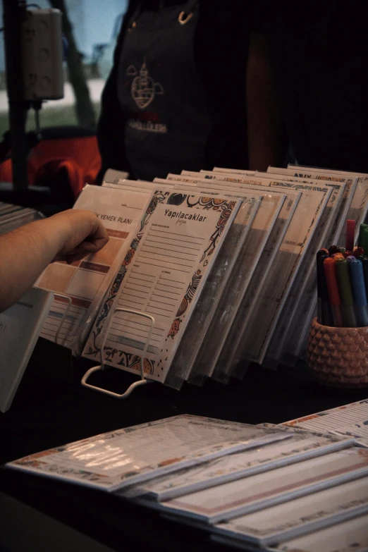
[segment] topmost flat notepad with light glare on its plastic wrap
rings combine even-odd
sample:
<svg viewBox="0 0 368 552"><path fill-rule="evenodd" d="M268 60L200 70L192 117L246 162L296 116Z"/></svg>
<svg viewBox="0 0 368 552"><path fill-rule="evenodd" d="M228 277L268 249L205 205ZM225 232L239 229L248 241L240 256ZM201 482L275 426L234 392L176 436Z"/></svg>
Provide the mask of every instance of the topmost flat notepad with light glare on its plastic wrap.
<svg viewBox="0 0 368 552"><path fill-rule="evenodd" d="M44 450L6 467L114 491L287 437L274 427L180 415Z"/></svg>

